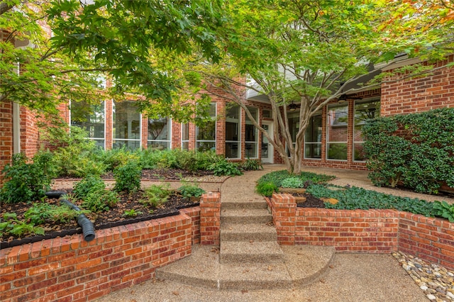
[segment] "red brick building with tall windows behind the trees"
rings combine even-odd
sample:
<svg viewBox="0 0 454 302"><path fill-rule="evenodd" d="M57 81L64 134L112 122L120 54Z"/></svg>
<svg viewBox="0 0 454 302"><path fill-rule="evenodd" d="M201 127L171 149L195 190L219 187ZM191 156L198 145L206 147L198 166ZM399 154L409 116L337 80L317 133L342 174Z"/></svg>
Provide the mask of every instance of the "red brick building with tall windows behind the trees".
<svg viewBox="0 0 454 302"><path fill-rule="evenodd" d="M416 63L399 60L387 69ZM303 164L343 169L366 169L362 155L361 128L365 119L454 107L454 69L445 67L453 56L436 63L436 71L417 79L389 82L385 79L376 89L360 91L324 106L311 118L304 140ZM271 108L266 101L243 95L251 113L263 128L272 131ZM69 110L71 108L71 110ZM226 100L216 96L211 103L213 121L204 127L182 124L169 118L152 120L140 114L133 101L106 100L93 106L92 113L81 116L77 105L61 106L61 113L71 125L79 125L89 137L105 149L126 145L132 149L216 150L230 160L259 159L279 163L280 158L266 138L248 121L238 106L226 109ZM221 118L216 119L216 116ZM289 125L296 133L297 111L289 112ZM4 166L13 152L33 155L39 148L35 114L14 104L0 104L0 165Z"/></svg>

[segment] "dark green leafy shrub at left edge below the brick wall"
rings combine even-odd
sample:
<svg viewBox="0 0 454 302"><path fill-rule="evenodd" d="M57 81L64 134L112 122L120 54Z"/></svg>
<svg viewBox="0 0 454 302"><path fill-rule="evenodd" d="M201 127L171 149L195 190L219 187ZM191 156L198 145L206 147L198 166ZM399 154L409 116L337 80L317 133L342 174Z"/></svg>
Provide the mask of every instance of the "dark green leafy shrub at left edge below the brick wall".
<svg viewBox="0 0 454 302"><path fill-rule="evenodd" d="M53 177L51 155L40 153L28 163L22 153L13 155L11 164L4 167L4 186L0 189L0 202L18 203L40 200L50 189Z"/></svg>

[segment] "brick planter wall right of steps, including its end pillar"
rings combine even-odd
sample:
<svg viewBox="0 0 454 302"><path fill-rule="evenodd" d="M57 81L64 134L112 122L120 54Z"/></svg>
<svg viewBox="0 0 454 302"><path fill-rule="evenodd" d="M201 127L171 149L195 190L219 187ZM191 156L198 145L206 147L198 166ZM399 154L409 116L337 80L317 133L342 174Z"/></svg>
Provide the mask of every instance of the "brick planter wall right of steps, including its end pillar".
<svg viewBox="0 0 454 302"><path fill-rule="evenodd" d="M338 252L401 250L454 269L454 223L394 210L297 208L289 194L268 202L281 245L326 245Z"/></svg>

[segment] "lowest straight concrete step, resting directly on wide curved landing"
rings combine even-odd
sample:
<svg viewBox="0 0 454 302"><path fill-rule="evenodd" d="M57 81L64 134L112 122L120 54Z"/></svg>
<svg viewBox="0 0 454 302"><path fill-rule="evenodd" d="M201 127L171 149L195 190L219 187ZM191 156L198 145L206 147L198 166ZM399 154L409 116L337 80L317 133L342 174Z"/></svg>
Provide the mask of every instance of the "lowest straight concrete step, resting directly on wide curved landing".
<svg viewBox="0 0 454 302"><path fill-rule="evenodd" d="M221 241L219 262L274 263L283 262L284 253L275 241Z"/></svg>

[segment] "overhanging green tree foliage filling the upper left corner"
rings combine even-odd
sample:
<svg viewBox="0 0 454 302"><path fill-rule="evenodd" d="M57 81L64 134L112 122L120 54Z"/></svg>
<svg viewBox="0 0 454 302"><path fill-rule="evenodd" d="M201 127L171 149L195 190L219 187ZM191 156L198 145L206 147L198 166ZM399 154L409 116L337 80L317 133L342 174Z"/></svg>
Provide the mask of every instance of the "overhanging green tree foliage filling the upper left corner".
<svg viewBox="0 0 454 302"><path fill-rule="evenodd" d="M95 104L105 99L104 92L116 99L138 94L141 110L169 113L177 107L176 91L195 91L200 81L190 73L175 74L158 59L196 52L216 61L221 4L0 0L0 28L6 35L0 42L0 101L55 115L57 104L69 100ZM27 40L30 47L17 47ZM101 87L105 79L113 82L109 90Z"/></svg>

